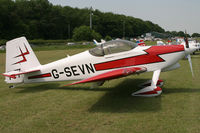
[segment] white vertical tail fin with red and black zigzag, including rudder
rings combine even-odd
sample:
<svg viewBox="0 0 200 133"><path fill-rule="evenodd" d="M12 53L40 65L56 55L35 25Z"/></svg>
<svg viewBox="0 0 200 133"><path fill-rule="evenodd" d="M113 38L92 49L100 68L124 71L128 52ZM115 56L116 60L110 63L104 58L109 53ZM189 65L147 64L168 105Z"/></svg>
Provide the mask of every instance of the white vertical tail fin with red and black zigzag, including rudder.
<svg viewBox="0 0 200 133"><path fill-rule="evenodd" d="M24 72L38 66L40 63L25 37L16 38L6 43L6 73ZM6 81L10 83L23 82L23 75L12 80L9 77L6 78Z"/></svg>

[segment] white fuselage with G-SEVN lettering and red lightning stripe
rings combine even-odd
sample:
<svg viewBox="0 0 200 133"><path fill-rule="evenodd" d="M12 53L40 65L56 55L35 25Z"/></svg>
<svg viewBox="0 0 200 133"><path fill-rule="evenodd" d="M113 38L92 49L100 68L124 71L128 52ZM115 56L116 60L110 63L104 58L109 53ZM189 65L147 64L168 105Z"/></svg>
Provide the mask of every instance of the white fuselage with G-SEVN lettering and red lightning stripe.
<svg viewBox="0 0 200 133"><path fill-rule="evenodd" d="M94 56L89 51L40 66L39 72L24 75L24 83L82 80L119 68L164 69L185 55L184 46L138 46L132 50Z"/></svg>

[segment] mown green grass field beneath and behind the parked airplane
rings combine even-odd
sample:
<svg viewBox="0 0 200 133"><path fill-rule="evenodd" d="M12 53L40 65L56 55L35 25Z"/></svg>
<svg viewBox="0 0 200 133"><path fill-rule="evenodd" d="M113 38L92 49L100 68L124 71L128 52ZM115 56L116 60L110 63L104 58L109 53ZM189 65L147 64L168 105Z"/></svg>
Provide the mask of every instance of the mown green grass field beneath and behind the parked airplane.
<svg viewBox="0 0 200 133"><path fill-rule="evenodd" d="M66 49L37 51L45 64L67 54ZM165 81L159 97L132 97L137 85L152 73L90 84L64 87L68 82L26 84L8 88L0 76L0 133L199 133L200 55L192 56L195 78L187 60L181 68L161 73ZM5 53L0 53L0 73Z"/></svg>

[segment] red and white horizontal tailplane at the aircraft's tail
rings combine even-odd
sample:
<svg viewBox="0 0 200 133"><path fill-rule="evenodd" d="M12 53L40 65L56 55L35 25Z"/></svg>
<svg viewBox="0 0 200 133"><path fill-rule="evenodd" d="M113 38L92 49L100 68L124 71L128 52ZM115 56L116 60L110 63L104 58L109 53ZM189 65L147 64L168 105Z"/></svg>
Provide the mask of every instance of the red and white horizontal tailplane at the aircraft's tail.
<svg viewBox="0 0 200 133"><path fill-rule="evenodd" d="M8 73L3 73L2 75L15 79L17 75L22 75L22 74L27 74L27 73L32 73L32 72L38 72L38 71L40 71L40 69L30 69L30 70L27 70L27 71L24 71L24 72L11 71L11 72L8 72Z"/></svg>

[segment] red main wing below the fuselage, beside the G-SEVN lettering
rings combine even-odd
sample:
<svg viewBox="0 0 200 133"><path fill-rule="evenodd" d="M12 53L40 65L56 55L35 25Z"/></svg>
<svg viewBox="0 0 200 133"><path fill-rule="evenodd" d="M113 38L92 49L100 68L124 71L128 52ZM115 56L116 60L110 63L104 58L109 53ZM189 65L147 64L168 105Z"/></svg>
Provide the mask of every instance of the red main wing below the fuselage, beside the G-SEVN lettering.
<svg viewBox="0 0 200 133"><path fill-rule="evenodd" d="M120 77L125 77L131 74L139 74L142 72L146 72L147 69L145 67L131 67L131 68L122 68L122 69L117 69L113 71L109 71L106 73L102 73L87 79L83 79L78 82L74 82L65 86L69 85L74 85L74 84L80 84L80 83L88 83L88 82L95 82L95 81L104 81L104 80L110 80L110 79L115 79L115 78L120 78Z"/></svg>

